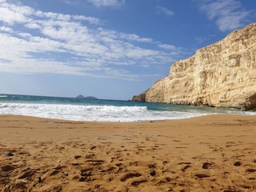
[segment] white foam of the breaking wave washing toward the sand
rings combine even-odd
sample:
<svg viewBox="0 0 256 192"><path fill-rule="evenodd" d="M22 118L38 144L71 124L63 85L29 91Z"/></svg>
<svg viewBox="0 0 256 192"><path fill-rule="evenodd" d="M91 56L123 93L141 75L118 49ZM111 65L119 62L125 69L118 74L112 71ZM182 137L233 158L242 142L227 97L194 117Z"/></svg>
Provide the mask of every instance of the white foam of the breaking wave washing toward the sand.
<svg viewBox="0 0 256 192"><path fill-rule="evenodd" d="M0 114L20 114L73 121L138 122L192 118L206 114L148 110L146 106L95 106L34 103L0 103Z"/></svg>

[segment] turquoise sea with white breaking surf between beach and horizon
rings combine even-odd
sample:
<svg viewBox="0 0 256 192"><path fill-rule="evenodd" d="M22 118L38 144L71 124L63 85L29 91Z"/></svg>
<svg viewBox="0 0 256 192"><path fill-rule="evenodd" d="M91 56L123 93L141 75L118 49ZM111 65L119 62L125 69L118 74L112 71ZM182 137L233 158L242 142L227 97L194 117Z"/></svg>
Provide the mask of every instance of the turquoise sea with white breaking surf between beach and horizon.
<svg viewBox="0 0 256 192"><path fill-rule="evenodd" d="M86 122L150 122L210 114L255 115L256 113L164 103L0 94L0 114Z"/></svg>

